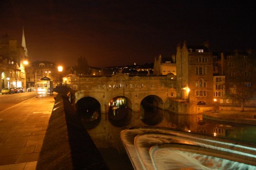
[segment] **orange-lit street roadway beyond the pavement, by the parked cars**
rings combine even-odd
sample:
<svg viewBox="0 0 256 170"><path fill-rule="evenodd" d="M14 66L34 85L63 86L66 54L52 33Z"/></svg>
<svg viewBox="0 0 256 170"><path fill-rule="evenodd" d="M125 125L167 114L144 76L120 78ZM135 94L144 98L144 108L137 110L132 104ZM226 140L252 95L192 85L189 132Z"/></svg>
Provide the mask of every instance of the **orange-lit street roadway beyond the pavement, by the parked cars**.
<svg viewBox="0 0 256 170"><path fill-rule="evenodd" d="M0 94L0 112L18 103L35 98L36 92Z"/></svg>

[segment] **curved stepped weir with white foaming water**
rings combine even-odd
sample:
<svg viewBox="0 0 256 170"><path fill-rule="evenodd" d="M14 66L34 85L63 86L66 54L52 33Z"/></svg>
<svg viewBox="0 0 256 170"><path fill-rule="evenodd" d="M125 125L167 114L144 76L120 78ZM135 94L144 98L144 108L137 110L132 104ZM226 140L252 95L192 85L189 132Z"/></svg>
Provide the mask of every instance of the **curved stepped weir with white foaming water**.
<svg viewBox="0 0 256 170"><path fill-rule="evenodd" d="M256 169L254 144L164 128L133 127L121 140L135 169Z"/></svg>

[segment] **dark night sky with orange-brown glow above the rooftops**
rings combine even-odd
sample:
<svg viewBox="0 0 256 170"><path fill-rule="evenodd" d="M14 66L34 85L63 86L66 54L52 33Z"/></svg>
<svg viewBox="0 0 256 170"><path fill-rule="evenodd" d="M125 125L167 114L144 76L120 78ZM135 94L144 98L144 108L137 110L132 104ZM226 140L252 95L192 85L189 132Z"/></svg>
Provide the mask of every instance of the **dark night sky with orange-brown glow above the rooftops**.
<svg viewBox="0 0 256 170"><path fill-rule="evenodd" d="M212 51L256 47L254 1L82 1L1 0L0 35L21 44L25 29L29 57L73 66L154 62L170 57L179 42Z"/></svg>

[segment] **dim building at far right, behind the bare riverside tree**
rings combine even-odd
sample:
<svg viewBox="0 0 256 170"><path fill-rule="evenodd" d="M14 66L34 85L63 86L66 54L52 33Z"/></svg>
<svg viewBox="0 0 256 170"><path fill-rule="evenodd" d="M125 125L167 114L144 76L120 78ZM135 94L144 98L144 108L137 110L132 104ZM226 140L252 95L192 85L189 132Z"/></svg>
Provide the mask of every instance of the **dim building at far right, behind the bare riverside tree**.
<svg viewBox="0 0 256 170"><path fill-rule="evenodd" d="M217 105L255 105L253 51L214 53L214 97Z"/></svg>

